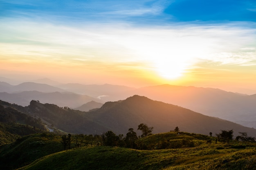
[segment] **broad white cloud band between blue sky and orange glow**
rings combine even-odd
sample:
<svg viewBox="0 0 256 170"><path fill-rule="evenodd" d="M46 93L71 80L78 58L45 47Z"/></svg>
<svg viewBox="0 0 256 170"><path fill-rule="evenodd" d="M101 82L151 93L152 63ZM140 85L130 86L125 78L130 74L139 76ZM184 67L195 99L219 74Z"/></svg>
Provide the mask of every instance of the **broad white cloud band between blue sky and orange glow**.
<svg viewBox="0 0 256 170"><path fill-rule="evenodd" d="M125 24L124 24L125 25ZM61 26L5 21L0 24L2 54L77 62L146 62L163 70L185 70L197 59L223 64L252 64L256 29L226 25L174 25L136 28L97 24ZM7 50L8 49L8 50Z"/></svg>

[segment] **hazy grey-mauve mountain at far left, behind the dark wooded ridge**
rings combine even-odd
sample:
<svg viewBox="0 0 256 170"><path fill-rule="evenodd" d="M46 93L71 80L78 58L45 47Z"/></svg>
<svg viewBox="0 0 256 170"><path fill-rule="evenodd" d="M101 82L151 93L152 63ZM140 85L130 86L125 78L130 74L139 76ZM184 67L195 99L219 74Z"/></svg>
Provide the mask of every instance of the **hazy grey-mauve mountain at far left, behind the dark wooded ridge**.
<svg viewBox="0 0 256 170"><path fill-rule="evenodd" d="M22 106L29 105L31 100L39 100L42 103L52 103L61 107L67 106L71 108L79 107L92 100L102 102L97 98L70 92L43 93L38 91L24 91L14 94L0 92L0 100L16 103L17 105Z"/></svg>

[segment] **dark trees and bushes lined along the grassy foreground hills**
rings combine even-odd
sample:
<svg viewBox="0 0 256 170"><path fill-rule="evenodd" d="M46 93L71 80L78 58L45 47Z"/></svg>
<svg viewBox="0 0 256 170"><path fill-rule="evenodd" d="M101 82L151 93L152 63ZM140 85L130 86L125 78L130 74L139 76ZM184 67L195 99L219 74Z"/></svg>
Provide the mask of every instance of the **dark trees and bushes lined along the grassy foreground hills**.
<svg viewBox="0 0 256 170"><path fill-rule="evenodd" d="M65 149L70 149L71 148L71 142L74 143L74 147L80 147L80 146L121 146L121 147L127 147L127 148L141 148L142 146L137 146L135 143L137 139L140 137L146 137L148 135L152 135L153 127L148 127L147 124L139 124L138 129L141 131L141 135L137 136L137 133L134 131L133 128L128 129L128 133L126 133L126 136L124 135L116 135L112 131L107 131L106 133L103 133L101 135L74 135L72 137L71 134L68 135L63 135L62 136L62 141L61 143L63 144L64 150ZM180 134L180 129L175 127L173 132L176 132ZM233 139L233 130L221 130L220 133L216 133L216 142L227 142L229 143ZM237 141L249 141L249 142L254 142L255 138L254 137L248 137L247 133L241 133L239 132L240 135L236 137ZM210 136L212 137L212 133L209 133ZM209 139L212 140L212 139ZM192 146L192 143L184 143L186 141L182 141L182 146L188 145ZM207 140L208 142L208 140ZM210 141L211 143L211 141Z"/></svg>

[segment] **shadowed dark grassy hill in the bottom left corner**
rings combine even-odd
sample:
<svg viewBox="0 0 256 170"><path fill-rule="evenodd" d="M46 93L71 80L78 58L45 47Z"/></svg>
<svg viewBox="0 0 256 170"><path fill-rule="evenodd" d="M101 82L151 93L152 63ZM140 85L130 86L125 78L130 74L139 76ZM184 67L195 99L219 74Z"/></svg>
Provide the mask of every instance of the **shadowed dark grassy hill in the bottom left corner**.
<svg viewBox="0 0 256 170"><path fill-rule="evenodd" d="M61 150L63 150L61 136L51 133L18 138L16 142L0 146L0 169L16 169Z"/></svg>

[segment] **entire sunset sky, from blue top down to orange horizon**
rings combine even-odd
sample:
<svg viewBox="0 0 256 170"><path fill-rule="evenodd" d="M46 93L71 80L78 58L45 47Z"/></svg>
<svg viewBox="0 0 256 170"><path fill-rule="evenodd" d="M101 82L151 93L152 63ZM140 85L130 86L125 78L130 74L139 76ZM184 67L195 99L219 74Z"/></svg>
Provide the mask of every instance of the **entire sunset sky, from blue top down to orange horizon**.
<svg viewBox="0 0 256 170"><path fill-rule="evenodd" d="M0 76L256 94L256 1L0 0Z"/></svg>

